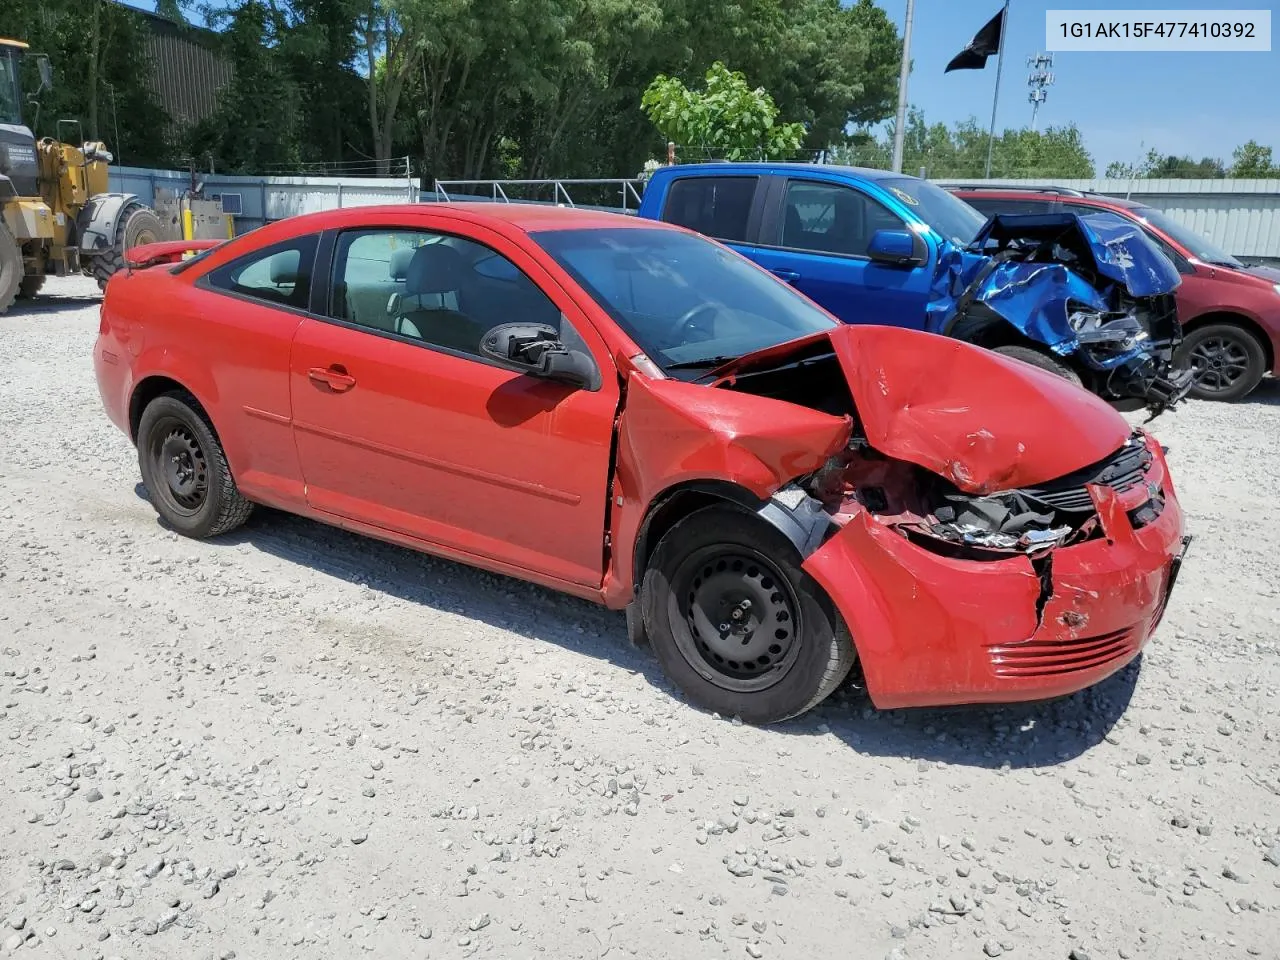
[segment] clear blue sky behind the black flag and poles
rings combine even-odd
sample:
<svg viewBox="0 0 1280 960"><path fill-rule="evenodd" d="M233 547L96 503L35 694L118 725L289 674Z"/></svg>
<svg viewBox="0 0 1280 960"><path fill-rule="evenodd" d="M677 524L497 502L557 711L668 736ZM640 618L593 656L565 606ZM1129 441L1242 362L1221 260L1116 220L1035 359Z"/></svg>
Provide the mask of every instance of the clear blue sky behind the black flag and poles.
<svg viewBox="0 0 1280 960"><path fill-rule="evenodd" d="M844 0L849 3L849 0ZM146 10L154 0L125 0ZM877 0L901 33L906 0ZM1001 0L915 0L914 69L909 101L929 123L977 116L991 122L996 58L983 70L943 74L947 61L1000 10ZM1005 69L996 129L1030 123L1027 58L1044 50L1046 10L1268 9L1268 52L1056 52L1056 82L1041 105L1037 127L1075 123L1101 175L1112 160L1134 163L1148 150L1230 160L1256 140L1280 157L1280 27L1277 0L1010 0Z"/></svg>

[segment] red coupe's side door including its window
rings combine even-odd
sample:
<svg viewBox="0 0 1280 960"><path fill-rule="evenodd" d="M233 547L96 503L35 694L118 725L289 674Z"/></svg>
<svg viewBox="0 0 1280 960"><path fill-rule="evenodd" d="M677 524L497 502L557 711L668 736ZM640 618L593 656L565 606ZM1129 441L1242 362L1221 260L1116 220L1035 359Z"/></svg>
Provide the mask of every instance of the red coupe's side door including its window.
<svg viewBox="0 0 1280 960"><path fill-rule="evenodd" d="M303 321L292 357L307 502L490 567L598 586L618 406L608 351L515 243L462 229L410 221L326 236L325 317ZM383 297L404 250L398 291ZM480 335L509 321L559 329L593 356L600 387L483 357Z"/></svg>

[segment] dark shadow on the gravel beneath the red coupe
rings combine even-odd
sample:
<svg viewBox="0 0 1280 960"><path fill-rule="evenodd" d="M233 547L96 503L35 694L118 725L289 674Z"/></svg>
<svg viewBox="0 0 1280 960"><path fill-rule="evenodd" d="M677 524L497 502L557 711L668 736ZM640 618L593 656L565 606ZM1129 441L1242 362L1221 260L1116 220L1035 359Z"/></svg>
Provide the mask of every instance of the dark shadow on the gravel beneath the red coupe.
<svg viewBox="0 0 1280 960"><path fill-rule="evenodd" d="M141 483L134 493L148 500ZM588 600L265 507L256 508L244 526L206 543L247 544L412 604L553 643L632 671L666 695L684 699L653 654L627 641L626 617ZM1124 716L1139 671L1140 658L1101 684L1056 700L900 710L877 710L851 675L817 709L768 730L781 737L835 736L860 754L920 763L1050 767L1106 737Z"/></svg>

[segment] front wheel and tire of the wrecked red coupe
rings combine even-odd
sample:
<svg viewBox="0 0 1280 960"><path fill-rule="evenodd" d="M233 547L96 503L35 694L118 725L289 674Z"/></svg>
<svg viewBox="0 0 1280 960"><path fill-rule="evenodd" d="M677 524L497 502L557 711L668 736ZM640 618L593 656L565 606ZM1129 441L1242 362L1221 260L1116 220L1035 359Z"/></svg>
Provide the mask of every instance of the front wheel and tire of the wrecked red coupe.
<svg viewBox="0 0 1280 960"><path fill-rule="evenodd" d="M858 654L800 563L782 534L727 506L696 511L662 538L640 604L663 671L691 701L748 723L777 723L840 686ZM742 620L722 631L712 622L721 617L726 626ZM735 660L736 652L749 657Z"/></svg>

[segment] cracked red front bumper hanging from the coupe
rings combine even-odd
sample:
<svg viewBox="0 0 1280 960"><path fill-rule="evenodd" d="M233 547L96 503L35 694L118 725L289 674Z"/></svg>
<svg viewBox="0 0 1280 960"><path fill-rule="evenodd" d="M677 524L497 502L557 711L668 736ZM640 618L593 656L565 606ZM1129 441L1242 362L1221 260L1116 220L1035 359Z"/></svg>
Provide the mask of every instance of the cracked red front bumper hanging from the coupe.
<svg viewBox="0 0 1280 960"><path fill-rule="evenodd" d="M1164 457L1156 448L1160 467ZM860 515L804 563L845 618L881 708L1061 696L1115 673L1151 637L1185 549L1167 471L1165 506L1134 530L1091 488L1105 538L1052 552L1052 590L1025 557L950 559ZM1142 495L1139 494L1139 499Z"/></svg>

